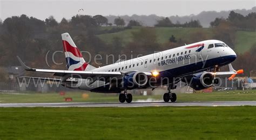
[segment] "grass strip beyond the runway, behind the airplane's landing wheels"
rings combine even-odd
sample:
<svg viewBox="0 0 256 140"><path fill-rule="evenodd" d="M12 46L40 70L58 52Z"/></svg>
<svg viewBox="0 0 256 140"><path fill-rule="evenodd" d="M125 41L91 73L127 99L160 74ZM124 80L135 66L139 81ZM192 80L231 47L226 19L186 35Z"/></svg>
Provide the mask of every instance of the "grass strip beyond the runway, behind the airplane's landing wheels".
<svg viewBox="0 0 256 140"><path fill-rule="evenodd" d="M247 93L248 92L248 93ZM59 93L22 93L22 94L0 94L0 103L11 102L64 102L71 97L72 102L119 102L118 94L86 93L83 98L82 92L67 92L65 95ZM143 100L163 101L160 95L133 95L133 101ZM219 91L212 93L178 93L177 101L252 101L256 100L256 90L248 91Z"/></svg>

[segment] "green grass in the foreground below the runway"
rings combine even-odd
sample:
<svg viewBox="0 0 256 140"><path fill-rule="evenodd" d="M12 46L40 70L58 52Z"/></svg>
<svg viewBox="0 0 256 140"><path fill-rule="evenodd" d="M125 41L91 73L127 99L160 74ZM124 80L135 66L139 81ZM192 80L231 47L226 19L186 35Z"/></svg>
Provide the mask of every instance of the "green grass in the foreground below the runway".
<svg viewBox="0 0 256 140"><path fill-rule="evenodd" d="M255 139L256 107L0 108L0 139Z"/></svg>

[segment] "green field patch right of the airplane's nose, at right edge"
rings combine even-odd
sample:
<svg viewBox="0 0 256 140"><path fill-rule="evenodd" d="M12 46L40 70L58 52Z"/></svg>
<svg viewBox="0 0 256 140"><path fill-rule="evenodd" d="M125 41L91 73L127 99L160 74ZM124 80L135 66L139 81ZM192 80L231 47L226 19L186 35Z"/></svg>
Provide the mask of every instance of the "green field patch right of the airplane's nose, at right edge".
<svg viewBox="0 0 256 140"><path fill-rule="evenodd" d="M250 50L253 44L256 43L256 32L237 31L235 33L235 50L243 54Z"/></svg>

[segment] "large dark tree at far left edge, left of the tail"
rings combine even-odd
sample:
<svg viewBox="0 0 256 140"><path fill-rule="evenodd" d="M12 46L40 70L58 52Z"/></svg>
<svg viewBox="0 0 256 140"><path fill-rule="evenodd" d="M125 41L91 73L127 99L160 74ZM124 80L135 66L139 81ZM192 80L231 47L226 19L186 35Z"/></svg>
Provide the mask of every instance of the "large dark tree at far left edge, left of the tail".
<svg viewBox="0 0 256 140"><path fill-rule="evenodd" d="M5 57L1 60L4 65L11 65L17 62L16 55L22 58L36 55L26 55L26 51L31 46L33 36L29 17L22 14L21 17L6 18L2 27L4 35L1 36L0 40L3 41L3 46L1 47L3 47Z"/></svg>

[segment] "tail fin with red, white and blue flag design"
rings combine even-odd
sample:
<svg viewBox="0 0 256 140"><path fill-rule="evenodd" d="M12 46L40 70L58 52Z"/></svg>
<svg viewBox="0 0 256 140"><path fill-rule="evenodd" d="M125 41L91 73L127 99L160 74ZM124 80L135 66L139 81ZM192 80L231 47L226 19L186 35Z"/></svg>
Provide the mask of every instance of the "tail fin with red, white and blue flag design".
<svg viewBox="0 0 256 140"><path fill-rule="evenodd" d="M62 34L62 42L65 51L66 63L69 70L86 71L95 69L84 61L82 54L71 39L69 33Z"/></svg>

